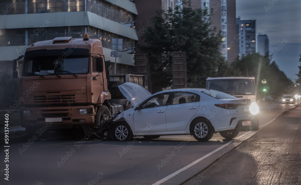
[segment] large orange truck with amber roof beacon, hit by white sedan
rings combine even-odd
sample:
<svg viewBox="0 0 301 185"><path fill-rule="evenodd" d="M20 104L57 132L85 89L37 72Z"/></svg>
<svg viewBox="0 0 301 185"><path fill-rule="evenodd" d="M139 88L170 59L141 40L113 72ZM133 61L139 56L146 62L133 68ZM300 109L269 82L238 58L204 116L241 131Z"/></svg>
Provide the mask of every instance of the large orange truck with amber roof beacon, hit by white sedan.
<svg viewBox="0 0 301 185"><path fill-rule="evenodd" d="M18 77L14 61L13 77L18 78L22 101L21 125L30 135L39 128L103 130L111 114L130 107L118 92L118 82L144 85L142 75L110 76L110 61L104 59L101 41L89 39L86 33L84 38L35 42L26 49L21 63Z"/></svg>

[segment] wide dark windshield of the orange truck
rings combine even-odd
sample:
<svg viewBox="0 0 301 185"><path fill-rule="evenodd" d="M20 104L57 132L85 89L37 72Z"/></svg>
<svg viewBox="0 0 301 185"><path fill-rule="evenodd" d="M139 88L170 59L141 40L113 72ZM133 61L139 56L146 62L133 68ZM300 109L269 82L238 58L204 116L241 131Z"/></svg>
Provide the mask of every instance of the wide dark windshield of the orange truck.
<svg viewBox="0 0 301 185"><path fill-rule="evenodd" d="M24 62L24 76L87 74L89 71L88 56L34 57Z"/></svg>

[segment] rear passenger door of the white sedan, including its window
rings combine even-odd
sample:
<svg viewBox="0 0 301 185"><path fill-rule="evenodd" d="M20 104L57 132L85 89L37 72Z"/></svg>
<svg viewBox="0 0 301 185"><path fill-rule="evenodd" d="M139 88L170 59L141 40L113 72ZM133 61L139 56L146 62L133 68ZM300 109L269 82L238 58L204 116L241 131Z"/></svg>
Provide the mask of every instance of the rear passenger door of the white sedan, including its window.
<svg viewBox="0 0 301 185"><path fill-rule="evenodd" d="M200 95L190 92L175 92L171 105L166 109L167 131L184 131L200 106Z"/></svg>

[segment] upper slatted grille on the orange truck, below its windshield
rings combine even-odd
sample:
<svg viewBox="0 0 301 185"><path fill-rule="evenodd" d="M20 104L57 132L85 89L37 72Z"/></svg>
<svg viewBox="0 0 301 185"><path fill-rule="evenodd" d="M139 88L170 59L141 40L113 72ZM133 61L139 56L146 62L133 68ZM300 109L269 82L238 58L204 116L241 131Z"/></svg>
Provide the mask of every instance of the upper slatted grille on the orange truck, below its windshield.
<svg viewBox="0 0 301 185"><path fill-rule="evenodd" d="M34 103L66 103L76 100L75 94L70 95L51 95L51 96L33 96Z"/></svg>

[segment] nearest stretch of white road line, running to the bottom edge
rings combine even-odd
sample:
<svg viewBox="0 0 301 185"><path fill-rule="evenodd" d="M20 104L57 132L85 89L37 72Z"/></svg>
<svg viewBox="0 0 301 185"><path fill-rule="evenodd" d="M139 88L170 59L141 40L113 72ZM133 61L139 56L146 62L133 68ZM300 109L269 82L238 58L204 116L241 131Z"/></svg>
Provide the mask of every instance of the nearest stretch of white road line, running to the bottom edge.
<svg viewBox="0 0 301 185"><path fill-rule="evenodd" d="M234 141L234 140L229 141L228 143L224 144L223 146L220 146L219 148L217 148L217 149L213 150L212 152L206 154L205 156L203 156L203 157L201 157L201 158L195 160L194 162L191 162L189 165L184 166L183 168L181 168L181 169L179 169L179 170L173 172L172 174L170 174L170 175L164 177L163 179L158 180L157 182L153 183L152 185L159 185L159 184L161 184L161 183L163 183L163 182L165 182L165 181L171 179L172 177L175 177L176 175L178 175L179 173L181 173L181 172L187 170L187 169L190 168L191 166L197 164L198 162L202 161L203 159L206 159L207 157L211 156L212 154L216 153L217 151L223 149L225 146L228 146L229 144L233 143L233 141Z"/></svg>

